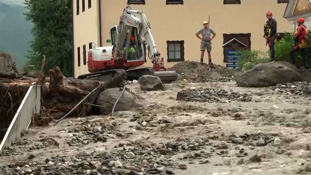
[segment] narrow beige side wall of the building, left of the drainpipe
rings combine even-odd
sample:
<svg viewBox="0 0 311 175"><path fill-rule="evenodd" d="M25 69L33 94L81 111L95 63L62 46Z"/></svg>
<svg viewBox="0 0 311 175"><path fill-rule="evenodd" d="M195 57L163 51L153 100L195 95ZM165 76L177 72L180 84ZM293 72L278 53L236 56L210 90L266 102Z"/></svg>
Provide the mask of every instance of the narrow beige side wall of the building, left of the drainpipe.
<svg viewBox="0 0 311 175"><path fill-rule="evenodd" d="M85 11L82 12L82 0L80 12L77 15L77 0L73 0L73 37L74 37L74 77L88 73L87 64L83 65L83 45L89 50L89 42L99 43L98 27L98 1L91 1L91 8L88 8L88 1L85 0ZM78 47L80 47L80 66L78 67Z"/></svg>

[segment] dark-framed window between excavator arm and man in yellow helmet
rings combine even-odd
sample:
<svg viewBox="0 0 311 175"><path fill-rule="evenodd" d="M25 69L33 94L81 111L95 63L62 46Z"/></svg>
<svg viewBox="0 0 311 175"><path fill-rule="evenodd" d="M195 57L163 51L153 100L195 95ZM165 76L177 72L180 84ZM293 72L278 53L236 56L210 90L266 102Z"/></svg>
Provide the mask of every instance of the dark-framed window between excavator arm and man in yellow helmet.
<svg viewBox="0 0 311 175"><path fill-rule="evenodd" d="M167 62L184 61L184 41L166 41Z"/></svg>

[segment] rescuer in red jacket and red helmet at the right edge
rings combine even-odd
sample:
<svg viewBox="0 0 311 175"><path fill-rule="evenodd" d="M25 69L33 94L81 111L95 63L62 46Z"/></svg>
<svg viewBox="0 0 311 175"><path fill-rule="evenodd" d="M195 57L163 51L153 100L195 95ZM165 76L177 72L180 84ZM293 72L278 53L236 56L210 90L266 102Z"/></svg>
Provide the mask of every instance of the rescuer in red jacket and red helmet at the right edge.
<svg viewBox="0 0 311 175"><path fill-rule="evenodd" d="M306 48L309 42L308 38L308 28L304 25L304 18L297 19L297 30L294 33L294 48L290 51L290 59L292 64L295 64L294 53L299 51L302 54L302 67L300 69L305 69L306 67Z"/></svg>

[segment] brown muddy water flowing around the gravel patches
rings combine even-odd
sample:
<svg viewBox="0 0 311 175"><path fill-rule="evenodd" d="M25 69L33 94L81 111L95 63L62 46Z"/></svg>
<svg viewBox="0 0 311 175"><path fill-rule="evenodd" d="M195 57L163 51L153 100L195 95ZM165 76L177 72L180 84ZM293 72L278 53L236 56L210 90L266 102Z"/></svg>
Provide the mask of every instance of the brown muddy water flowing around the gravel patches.
<svg viewBox="0 0 311 175"><path fill-rule="evenodd" d="M253 101L202 103L175 100L177 92L190 87L220 87L226 91L248 93ZM179 175L311 173L308 165L311 149L306 146L311 145L306 141L311 135L311 114L306 112L311 108L309 97L278 94L268 88L242 88L234 82L172 83L166 85L165 91L151 92L142 92L138 84L128 85L128 88L145 98L144 107L118 111L115 116L71 118L55 127L30 129L22 137L24 142L12 146L16 155L1 156L0 165L16 160L43 161L57 155L70 157L95 151L113 152L120 149L120 144L133 147L143 143L155 147L161 143L189 139L202 140L204 146L198 150L182 149L172 156L160 155L155 159L173 162L170 169ZM133 119L135 116L138 116L136 121ZM150 122L163 120L166 122L160 125ZM137 122L142 124L143 121L148 121L143 129L136 128ZM108 135L110 138L105 142L67 144L75 137L75 132L68 133L68 130L93 123L98 127L114 123L115 128ZM54 142L42 141L45 137L57 140L60 148ZM245 137L247 139L243 139ZM259 138L272 139L272 142L258 146ZM280 144L274 144L276 138L281 140ZM290 147L295 141L302 143ZM34 145L40 148L29 150ZM34 156L31 160L27 159L30 154ZM181 164L185 164L187 169L180 169Z"/></svg>

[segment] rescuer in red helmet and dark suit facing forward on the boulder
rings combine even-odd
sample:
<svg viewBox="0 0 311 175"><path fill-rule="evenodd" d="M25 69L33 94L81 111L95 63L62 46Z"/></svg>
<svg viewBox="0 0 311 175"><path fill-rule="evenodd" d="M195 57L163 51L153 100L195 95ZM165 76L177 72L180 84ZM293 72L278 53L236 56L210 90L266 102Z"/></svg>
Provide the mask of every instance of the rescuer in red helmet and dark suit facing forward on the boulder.
<svg viewBox="0 0 311 175"><path fill-rule="evenodd" d="M265 38L269 44L269 49L270 49L270 53L271 53L271 59L270 61L274 61L274 54L275 54L275 50L274 50L274 41L276 39L276 20L272 18L272 12L268 11L266 13L266 16L268 18L267 26L270 28L269 33L266 35L265 34Z"/></svg>

